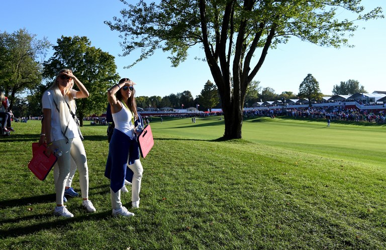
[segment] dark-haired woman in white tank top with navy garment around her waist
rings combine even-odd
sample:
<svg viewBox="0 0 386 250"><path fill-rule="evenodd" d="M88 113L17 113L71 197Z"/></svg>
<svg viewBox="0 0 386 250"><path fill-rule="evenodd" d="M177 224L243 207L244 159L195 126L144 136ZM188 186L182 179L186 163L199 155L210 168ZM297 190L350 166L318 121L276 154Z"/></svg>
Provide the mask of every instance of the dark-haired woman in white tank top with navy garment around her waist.
<svg viewBox="0 0 386 250"><path fill-rule="evenodd" d="M137 113L134 84L123 78L107 93L115 129L109 144L105 176L110 179L112 214L127 217L134 216L134 213L122 206L121 188L125 180L132 183L132 207L138 208L143 173L137 142L140 131L136 130L138 124L143 126L143 121Z"/></svg>

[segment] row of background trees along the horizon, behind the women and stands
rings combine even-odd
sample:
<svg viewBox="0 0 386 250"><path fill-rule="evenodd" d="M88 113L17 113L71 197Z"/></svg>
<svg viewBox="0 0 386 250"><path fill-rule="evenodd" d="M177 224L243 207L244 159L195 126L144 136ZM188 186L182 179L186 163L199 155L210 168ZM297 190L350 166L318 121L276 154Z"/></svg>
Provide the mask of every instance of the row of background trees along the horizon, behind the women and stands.
<svg viewBox="0 0 386 250"><path fill-rule="evenodd" d="M54 54L46 61L48 49L52 46ZM86 37L61 37L57 45L50 44L46 38L36 39L36 35L20 29L12 34L0 33L0 90L9 97L14 115L41 115L41 96L52 84L56 72L70 68L90 92L89 98L76 100L77 115L80 118L92 114L102 114L106 109L107 89L119 80L114 56L91 46ZM357 80L341 81L333 87L333 94L366 93ZM252 80L246 89L244 107L259 101L307 98L320 99L323 94L319 82L312 76L303 80L299 93L285 91L276 94L271 87L260 86ZM217 85L205 83L201 93L195 98L189 90L161 96L137 96L138 107L147 108L188 108L199 110L221 108L221 98ZM182 106L183 105L183 106ZM82 119L81 119L82 120Z"/></svg>

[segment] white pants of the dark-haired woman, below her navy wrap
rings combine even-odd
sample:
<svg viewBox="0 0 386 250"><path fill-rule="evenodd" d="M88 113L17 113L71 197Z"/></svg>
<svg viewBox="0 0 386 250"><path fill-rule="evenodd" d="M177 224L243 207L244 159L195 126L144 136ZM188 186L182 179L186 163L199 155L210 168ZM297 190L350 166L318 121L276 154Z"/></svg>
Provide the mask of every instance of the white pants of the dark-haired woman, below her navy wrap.
<svg viewBox="0 0 386 250"><path fill-rule="evenodd" d="M135 160L134 164L129 165L129 168L134 172L133 180L131 182L131 201L139 201L139 192L141 191L141 180L143 168L141 161ZM121 190L114 193L114 191L110 188L111 194L111 206L113 209L119 209L122 207L121 202Z"/></svg>

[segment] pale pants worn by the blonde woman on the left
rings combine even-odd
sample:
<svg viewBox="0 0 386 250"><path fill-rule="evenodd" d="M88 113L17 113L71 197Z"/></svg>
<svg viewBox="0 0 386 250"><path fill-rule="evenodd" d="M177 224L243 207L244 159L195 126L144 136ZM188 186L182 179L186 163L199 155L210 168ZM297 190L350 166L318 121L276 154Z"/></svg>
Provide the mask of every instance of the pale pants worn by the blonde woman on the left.
<svg viewBox="0 0 386 250"><path fill-rule="evenodd" d="M58 147L62 150L62 156L58 157L58 178L55 183L56 204L63 205L64 188L70 174L71 157L79 170L79 185L82 198L88 198L88 166L86 159L86 152L79 137L70 138L68 144L65 140L58 140L53 142L53 148Z"/></svg>

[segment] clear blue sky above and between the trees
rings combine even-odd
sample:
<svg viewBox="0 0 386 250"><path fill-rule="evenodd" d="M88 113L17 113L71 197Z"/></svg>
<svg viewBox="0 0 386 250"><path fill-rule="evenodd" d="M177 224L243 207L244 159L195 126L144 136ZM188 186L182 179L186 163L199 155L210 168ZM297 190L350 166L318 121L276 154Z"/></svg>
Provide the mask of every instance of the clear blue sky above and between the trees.
<svg viewBox="0 0 386 250"><path fill-rule="evenodd" d="M101 48L115 56L117 71L121 77L128 77L137 83L137 96L161 97L171 93L189 90L194 97L199 95L204 84L213 77L207 63L197 61L204 51L193 48L189 58L177 68L170 67L167 53L157 51L151 58L130 69L137 59L139 50L132 55L120 57L122 41L119 33L111 31L104 21L120 17L125 8L119 0L13 0L2 1L0 32L13 33L26 28L38 39L47 37L56 44L63 36L86 36L91 46ZM132 2L128 0L128 2ZM134 1L133 1L134 2ZM385 0L364 0L366 11L382 7L386 11ZM340 13L344 16L345 13ZM324 94L331 94L334 85L349 79L358 80L368 92L386 91L386 20L378 19L357 23L358 30L350 44L355 48L322 48L297 38L269 50L266 60L254 80L262 87L271 87L276 93L292 91L298 93L299 85L308 73L319 82ZM365 28L365 29L363 29ZM51 57L52 51L47 55Z"/></svg>

